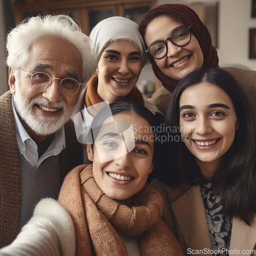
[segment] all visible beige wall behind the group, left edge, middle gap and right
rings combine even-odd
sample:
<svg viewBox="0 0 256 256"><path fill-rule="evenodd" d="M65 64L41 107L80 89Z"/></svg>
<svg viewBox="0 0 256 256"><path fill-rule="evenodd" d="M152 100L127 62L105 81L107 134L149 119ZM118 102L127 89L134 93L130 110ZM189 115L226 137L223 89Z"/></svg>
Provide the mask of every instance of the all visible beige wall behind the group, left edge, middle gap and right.
<svg viewBox="0 0 256 256"><path fill-rule="evenodd" d="M0 0L0 95L8 90L8 69L5 67L5 32L3 27L3 0ZM158 5L182 3L189 5L200 0L158 0ZM201 1L206 5L216 0ZM256 18L251 18L251 0L219 0L218 55L220 66L244 67L256 70L256 59L249 59L249 28L256 28ZM154 82L150 63L142 70L138 86Z"/></svg>

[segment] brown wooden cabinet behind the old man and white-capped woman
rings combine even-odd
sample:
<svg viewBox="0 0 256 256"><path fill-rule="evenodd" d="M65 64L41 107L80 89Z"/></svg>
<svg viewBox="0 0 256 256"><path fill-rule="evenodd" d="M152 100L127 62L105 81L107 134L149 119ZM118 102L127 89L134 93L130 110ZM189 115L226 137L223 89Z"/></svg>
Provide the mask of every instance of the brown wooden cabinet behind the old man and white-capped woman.
<svg viewBox="0 0 256 256"><path fill-rule="evenodd" d="M138 21L146 11L157 5L157 0L26 0L15 1L15 20L38 14L69 14L78 20L87 35L102 19L123 16Z"/></svg>

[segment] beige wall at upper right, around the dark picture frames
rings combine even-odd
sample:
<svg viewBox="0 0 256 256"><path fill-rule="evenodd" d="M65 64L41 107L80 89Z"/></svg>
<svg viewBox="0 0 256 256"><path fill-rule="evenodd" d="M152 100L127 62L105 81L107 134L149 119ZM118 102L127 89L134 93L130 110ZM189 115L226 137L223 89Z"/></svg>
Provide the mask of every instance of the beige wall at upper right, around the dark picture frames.
<svg viewBox="0 0 256 256"><path fill-rule="evenodd" d="M200 0L158 0L158 4L185 4ZM206 5L216 0L201 1ZM221 67L238 66L256 70L256 59L249 59L249 28L256 28L251 18L251 0L219 0L218 56Z"/></svg>

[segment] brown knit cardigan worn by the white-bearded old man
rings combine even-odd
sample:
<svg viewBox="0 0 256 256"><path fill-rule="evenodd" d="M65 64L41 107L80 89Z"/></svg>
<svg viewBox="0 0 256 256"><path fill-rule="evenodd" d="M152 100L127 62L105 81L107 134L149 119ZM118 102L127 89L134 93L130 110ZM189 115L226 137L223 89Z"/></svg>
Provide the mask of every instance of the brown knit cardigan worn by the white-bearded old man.
<svg viewBox="0 0 256 256"><path fill-rule="evenodd" d="M65 136L66 148L60 153L62 180L82 159L72 121L65 125ZM20 204L18 147L8 91L0 97L0 248L10 244L18 234Z"/></svg>

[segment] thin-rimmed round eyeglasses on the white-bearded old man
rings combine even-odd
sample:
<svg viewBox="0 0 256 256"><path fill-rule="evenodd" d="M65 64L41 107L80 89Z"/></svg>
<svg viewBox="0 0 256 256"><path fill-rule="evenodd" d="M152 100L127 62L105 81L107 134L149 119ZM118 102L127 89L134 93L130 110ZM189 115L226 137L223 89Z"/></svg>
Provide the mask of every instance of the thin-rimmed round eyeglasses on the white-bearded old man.
<svg viewBox="0 0 256 256"><path fill-rule="evenodd" d="M19 69L22 72L30 75L30 87L36 92L44 92L46 91L52 84L53 79L60 80L59 82L59 90L62 94L66 96L73 96L78 91L82 83L79 83L74 78L64 78L60 79L57 77L51 77L45 72L36 72L34 74L30 74L22 69Z"/></svg>

